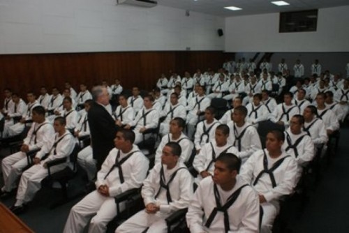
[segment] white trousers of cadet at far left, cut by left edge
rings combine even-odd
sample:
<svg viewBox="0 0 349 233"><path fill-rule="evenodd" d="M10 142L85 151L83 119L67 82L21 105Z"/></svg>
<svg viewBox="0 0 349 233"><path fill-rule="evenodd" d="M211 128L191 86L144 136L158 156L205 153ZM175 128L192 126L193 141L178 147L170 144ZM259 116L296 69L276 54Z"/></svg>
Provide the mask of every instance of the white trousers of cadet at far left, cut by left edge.
<svg viewBox="0 0 349 233"><path fill-rule="evenodd" d="M18 177L22 174L24 167L27 167L27 154L20 151L7 156L2 160L1 169L3 174L3 191L10 192L16 185Z"/></svg>

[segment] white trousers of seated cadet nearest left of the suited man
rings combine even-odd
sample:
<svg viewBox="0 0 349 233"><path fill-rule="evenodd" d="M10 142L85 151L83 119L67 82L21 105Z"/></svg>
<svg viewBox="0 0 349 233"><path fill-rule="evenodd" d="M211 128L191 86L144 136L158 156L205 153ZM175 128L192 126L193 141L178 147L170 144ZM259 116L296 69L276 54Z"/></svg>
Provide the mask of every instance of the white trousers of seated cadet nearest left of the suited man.
<svg viewBox="0 0 349 233"><path fill-rule="evenodd" d="M51 167L50 171L52 173L64 170L67 164L60 164ZM41 188L41 181L48 176L47 168L43 167L41 164L36 164L30 167L28 170L23 172L20 179L20 186L17 190L17 200L24 203L33 200L36 192Z"/></svg>

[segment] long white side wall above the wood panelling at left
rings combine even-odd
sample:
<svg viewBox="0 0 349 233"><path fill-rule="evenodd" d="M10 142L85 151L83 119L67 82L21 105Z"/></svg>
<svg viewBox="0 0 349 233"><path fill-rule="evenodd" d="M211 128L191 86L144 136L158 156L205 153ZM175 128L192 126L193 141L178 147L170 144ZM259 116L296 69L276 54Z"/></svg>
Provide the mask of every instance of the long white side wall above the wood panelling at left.
<svg viewBox="0 0 349 233"><path fill-rule="evenodd" d="M223 17L115 0L0 0L0 54L224 50Z"/></svg>

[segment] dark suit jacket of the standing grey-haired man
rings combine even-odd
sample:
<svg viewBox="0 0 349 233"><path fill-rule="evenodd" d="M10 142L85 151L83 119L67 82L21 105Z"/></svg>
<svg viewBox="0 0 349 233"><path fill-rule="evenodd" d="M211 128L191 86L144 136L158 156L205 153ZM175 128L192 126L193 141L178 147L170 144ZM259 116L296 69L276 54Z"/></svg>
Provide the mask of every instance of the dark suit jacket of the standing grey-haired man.
<svg viewBox="0 0 349 233"><path fill-rule="evenodd" d="M91 133L92 151L97 160L97 170L107 157L109 151L114 148L114 138L117 127L109 112L98 103L94 103L88 112L89 129Z"/></svg>

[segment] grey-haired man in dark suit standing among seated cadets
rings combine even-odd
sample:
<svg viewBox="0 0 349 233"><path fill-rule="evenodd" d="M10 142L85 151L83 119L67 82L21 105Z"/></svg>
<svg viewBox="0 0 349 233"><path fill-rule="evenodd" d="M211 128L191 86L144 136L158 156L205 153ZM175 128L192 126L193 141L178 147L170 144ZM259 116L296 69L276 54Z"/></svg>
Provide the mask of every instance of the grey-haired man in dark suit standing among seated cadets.
<svg viewBox="0 0 349 233"><path fill-rule="evenodd" d="M114 137L117 126L112 118L112 107L109 104L109 94L105 87L97 86L92 89L94 104L88 112L89 128L91 132L92 152L97 160L97 171L114 148Z"/></svg>

